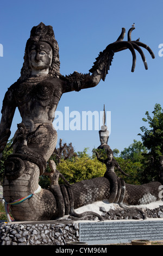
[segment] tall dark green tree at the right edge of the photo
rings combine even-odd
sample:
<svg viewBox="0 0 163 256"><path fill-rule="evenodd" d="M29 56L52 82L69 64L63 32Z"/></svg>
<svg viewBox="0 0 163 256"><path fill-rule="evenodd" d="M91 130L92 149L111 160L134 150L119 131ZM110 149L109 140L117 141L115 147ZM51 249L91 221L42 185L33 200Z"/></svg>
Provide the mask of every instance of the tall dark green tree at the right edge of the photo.
<svg viewBox="0 0 163 256"><path fill-rule="evenodd" d="M141 136L143 145L148 149L145 157L145 182L158 179L159 156L163 155L163 109L156 103L152 117L146 112L147 118L142 118L148 123L148 127L140 127L143 134Z"/></svg>

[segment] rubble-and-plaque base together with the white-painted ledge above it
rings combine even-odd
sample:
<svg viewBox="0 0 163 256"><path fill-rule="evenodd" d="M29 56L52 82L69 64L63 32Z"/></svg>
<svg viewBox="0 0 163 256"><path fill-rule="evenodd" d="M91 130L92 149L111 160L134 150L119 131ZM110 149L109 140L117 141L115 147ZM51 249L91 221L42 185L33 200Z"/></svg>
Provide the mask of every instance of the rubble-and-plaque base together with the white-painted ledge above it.
<svg viewBox="0 0 163 256"><path fill-rule="evenodd" d="M141 205L141 208L142 205ZM77 220L64 216L54 221L0 222L0 245L59 245L70 242L86 242L87 245L130 243L135 239L163 240L163 202L145 205L147 220L136 211L125 211L115 204L97 202L77 209L101 214L97 217Z"/></svg>

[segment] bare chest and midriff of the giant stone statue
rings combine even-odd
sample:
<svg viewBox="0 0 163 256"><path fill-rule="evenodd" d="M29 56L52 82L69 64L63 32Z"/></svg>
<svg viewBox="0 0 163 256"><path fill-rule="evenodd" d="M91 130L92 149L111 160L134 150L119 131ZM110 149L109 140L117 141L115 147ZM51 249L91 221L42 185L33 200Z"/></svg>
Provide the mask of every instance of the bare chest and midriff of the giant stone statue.
<svg viewBox="0 0 163 256"><path fill-rule="evenodd" d="M53 121L63 92L64 82L59 78L44 81L29 78L17 84L14 95L23 123L27 119Z"/></svg>

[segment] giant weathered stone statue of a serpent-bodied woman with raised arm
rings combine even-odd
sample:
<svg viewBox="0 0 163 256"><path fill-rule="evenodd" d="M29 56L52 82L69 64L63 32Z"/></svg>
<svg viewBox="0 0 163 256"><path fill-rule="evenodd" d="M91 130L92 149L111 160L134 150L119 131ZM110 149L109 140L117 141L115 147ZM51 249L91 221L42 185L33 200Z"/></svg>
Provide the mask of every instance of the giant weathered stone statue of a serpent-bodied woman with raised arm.
<svg viewBox="0 0 163 256"><path fill-rule="evenodd" d="M105 76L111 65L115 52L129 49L133 56L131 71L135 69L136 49L142 57L145 68L147 62L139 46L146 48L154 58L152 50L139 40L131 41L129 29L128 41L123 41L125 29L114 43L99 53L90 74L74 72L69 76L60 74L59 47L51 26L42 22L33 27L27 41L21 76L10 86L5 94L0 124L0 154L10 136L10 126L18 107L22 123L14 136L13 154L5 162L3 193L7 210L17 221L54 220L60 216L59 199L55 193L39 186L39 176L43 174L46 163L52 155L57 143L57 132L53 127L55 110L63 93L95 87ZM158 198L158 186L154 183L145 186L144 190L126 185L127 192L124 202L137 204L148 192L147 202ZM81 181L71 186L61 186L62 200L65 210L61 215L69 214L70 209L103 200L109 197L110 182L101 177ZM136 191L139 191L136 193ZM73 197L73 199L72 199ZM71 205L70 205L71 204ZM63 208L64 209L64 208ZM8 216L9 217L9 216ZM10 218L10 217L9 217ZM9 219L10 220L10 219Z"/></svg>

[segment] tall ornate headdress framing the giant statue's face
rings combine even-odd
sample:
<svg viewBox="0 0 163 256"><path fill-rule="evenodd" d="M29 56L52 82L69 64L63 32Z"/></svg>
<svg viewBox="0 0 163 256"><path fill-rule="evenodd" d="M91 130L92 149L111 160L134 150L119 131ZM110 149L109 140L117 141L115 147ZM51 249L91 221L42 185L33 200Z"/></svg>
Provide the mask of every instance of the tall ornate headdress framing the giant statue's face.
<svg viewBox="0 0 163 256"><path fill-rule="evenodd" d="M42 22L38 26L34 26L30 31L30 38L27 40L24 63L21 69L21 80L26 80L30 76L30 65L28 59L28 47L34 42L47 42L52 47L53 58L52 64L49 68L49 75L52 77L59 77L60 75L60 61L59 61L59 46L55 40L52 26L46 26Z"/></svg>

